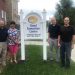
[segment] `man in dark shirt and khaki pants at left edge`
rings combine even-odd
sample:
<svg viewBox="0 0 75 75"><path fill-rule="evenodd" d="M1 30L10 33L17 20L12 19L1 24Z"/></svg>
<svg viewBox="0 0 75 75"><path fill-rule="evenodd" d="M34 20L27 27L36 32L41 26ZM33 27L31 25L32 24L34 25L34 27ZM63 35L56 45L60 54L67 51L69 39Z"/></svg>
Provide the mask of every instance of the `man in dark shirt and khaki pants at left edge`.
<svg viewBox="0 0 75 75"><path fill-rule="evenodd" d="M4 27L4 21L0 19L0 63L3 66L6 66L7 36L8 30Z"/></svg>

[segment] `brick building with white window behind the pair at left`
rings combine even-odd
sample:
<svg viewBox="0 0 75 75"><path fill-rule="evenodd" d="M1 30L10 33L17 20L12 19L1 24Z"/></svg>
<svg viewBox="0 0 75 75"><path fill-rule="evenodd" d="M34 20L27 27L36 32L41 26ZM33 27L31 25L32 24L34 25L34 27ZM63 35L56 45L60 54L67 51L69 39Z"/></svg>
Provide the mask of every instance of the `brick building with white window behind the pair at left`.
<svg viewBox="0 0 75 75"><path fill-rule="evenodd" d="M19 0L0 0L0 18L7 22L13 20L18 24L18 1Z"/></svg>

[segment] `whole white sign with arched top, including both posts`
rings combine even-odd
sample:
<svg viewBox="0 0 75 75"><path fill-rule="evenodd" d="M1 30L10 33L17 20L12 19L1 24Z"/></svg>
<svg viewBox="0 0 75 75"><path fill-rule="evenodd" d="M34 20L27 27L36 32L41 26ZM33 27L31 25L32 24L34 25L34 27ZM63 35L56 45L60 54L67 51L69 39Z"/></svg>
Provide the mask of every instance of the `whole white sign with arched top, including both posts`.
<svg viewBox="0 0 75 75"><path fill-rule="evenodd" d="M43 10L42 16L37 12L31 12L25 18L20 12L20 31L21 31L21 60L25 60L25 40L42 39L43 40L43 60L47 60L46 44L46 11Z"/></svg>

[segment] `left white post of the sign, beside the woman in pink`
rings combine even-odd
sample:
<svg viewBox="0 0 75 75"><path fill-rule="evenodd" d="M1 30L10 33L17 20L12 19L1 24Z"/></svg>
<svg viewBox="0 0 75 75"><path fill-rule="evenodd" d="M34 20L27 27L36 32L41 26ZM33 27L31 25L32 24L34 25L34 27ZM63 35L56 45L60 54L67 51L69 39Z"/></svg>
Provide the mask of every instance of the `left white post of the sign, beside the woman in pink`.
<svg viewBox="0 0 75 75"><path fill-rule="evenodd" d="M20 32L21 32L21 60L25 60L25 42L24 42L24 26L23 11L20 11Z"/></svg>

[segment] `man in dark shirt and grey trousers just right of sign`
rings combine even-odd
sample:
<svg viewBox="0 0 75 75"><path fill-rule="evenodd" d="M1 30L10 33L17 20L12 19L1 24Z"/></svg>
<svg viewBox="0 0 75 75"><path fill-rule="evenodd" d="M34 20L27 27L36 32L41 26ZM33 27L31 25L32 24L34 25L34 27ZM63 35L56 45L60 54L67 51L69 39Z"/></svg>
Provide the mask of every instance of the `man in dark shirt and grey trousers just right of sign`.
<svg viewBox="0 0 75 75"><path fill-rule="evenodd" d="M56 23L56 18L51 18L51 25L48 28L48 43L50 45L50 60L53 60L53 47L56 50L56 62L59 62L59 49L58 49L58 34L59 25Z"/></svg>

